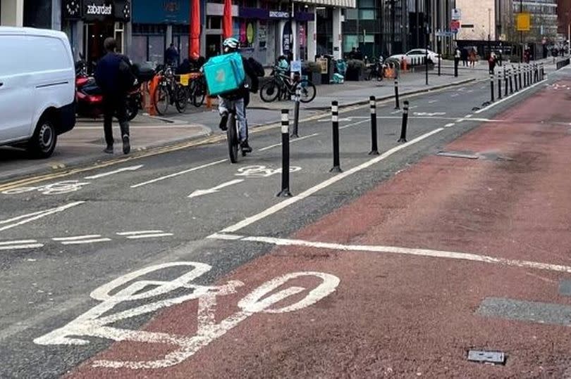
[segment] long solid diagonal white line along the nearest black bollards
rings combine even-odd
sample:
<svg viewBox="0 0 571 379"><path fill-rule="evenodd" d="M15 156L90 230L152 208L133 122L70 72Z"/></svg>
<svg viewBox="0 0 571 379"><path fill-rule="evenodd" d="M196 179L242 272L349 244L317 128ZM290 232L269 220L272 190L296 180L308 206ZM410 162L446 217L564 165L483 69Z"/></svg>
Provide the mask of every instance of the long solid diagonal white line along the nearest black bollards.
<svg viewBox="0 0 571 379"><path fill-rule="evenodd" d="M234 224L232 226L228 226L226 229L223 229L221 232L222 233L234 233L235 231L239 231L240 229L245 228L246 226L248 226L250 224L254 224L254 222L257 222L261 219L264 219L265 217L268 217L271 214L279 212L280 210L283 210L285 207L288 207L289 205L295 204L298 201L303 200L303 199L309 197L310 195L313 195L314 193L331 186L332 184L336 184L338 181L343 180L346 177L348 177L352 174L355 174L356 172L360 172L362 169L366 169L368 167L371 167L372 165L375 165L376 163L381 162L381 160L385 160L386 158L390 157L391 155L398 153L400 150L403 150L409 146L412 146L415 143L419 143L421 141L424 141L424 139L427 139L427 138L433 136L434 134L438 134L443 130L444 130L443 128L434 129L433 131L429 131L426 134L422 134L422 136L419 136L415 139L412 139L411 141L409 141L407 143L403 143L402 145L395 146L394 148L391 148L391 150L386 151L385 153L377 156L376 158L368 160L367 162L364 162L361 165L353 167L352 169L348 169L345 172L341 172L340 174L337 174L336 176L333 176L330 179L327 179L326 181L322 181L320 184L317 184L317 186L313 186L312 188L309 188L306 191L303 191L302 193L300 193L299 195L293 196L292 198L288 198L287 200L283 200L281 203L278 203L272 207L269 207L268 209L266 209L262 212L259 212L258 214L254 214L254 216L248 217L247 219L242 220L242 221L238 222L237 224Z"/></svg>

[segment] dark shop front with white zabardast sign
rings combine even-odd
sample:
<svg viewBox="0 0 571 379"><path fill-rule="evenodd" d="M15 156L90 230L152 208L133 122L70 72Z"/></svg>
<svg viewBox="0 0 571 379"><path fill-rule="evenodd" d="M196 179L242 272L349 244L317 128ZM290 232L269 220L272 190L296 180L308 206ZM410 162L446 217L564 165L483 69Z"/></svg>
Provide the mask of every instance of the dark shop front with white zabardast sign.
<svg viewBox="0 0 571 379"><path fill-rule="evenodd" d="M62 30L68 34L76 58L88 62L104 56L104 40L114 37L118 52L129 53L130 0L62 0Z"/></svg>

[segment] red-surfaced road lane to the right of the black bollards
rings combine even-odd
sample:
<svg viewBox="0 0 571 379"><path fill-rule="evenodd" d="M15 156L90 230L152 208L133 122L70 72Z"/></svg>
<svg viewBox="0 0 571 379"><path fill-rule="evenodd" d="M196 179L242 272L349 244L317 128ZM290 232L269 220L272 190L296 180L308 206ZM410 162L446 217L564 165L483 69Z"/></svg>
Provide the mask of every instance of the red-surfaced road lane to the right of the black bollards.
<svg viewBox="0 0 571 379"><path fill-rule="evenodd" d="M446 146L467 158L429 156L290 238L234 241L279 246L145 333L77 329L123 341L70 377L571 375L568 100L546 88Z"/></svg>

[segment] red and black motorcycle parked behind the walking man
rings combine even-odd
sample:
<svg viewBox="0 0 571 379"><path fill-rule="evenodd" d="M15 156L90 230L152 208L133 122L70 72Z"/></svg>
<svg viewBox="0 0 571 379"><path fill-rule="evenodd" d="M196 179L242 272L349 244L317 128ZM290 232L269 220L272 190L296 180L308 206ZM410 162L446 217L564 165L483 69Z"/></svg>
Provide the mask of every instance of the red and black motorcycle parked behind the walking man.
<svg viewBox="0 0 571 379"><path fill-rule="evenodd" d="M75 63L76 113L80 117L102 117L104 113L102 90L97 86L94 77L87 74L87 63L82 56L80 58L81 60ZM147 71L144 72L138 65L134 66L137 80L127 94L127 118L129 121L137 117L139 110L144 108L142 84L152 79Z"/></svg>

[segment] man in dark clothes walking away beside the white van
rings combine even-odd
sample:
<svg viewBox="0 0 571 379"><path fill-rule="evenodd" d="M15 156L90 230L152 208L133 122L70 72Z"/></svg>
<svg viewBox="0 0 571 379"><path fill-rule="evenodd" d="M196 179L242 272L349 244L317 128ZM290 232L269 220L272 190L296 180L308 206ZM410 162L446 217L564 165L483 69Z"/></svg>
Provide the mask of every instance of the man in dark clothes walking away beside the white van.
<svg viewBox="0 0 571 379"><path fill-rule="evenodd" d="M135 83L135 75L129 58L116 53L117 41L111 37L103 44L107 52L97 63L95 81L103 93L103 130L107 147L104 152L113 154L113 116L116 116L121 127L123 153L131 150L129 138L129 121L127 119L127 93Z"/></svg>

